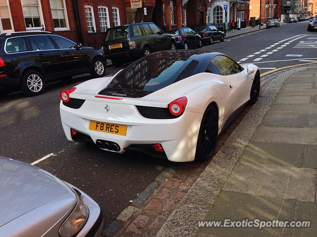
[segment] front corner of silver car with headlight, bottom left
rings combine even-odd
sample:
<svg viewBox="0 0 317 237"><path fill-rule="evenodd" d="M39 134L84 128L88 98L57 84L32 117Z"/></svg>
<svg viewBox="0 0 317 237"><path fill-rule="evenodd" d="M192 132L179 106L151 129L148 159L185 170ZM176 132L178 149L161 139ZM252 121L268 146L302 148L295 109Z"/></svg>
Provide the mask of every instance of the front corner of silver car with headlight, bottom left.
<svg viewBox="0 0 317 237"><path fill-rule="evenodd" d="M99 205L30 164L0 157L0 236L100 237Z"/></svg>

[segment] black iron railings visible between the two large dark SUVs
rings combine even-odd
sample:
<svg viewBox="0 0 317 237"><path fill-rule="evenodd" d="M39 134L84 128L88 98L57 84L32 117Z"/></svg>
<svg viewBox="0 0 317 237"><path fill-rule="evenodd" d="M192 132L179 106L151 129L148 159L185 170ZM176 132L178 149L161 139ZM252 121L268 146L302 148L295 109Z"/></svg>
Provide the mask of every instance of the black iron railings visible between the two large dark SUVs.
<svg viewBox="0 0 317 237"><path fill-rule="evenodd" d="M78 31L55 31L56 35L65 37L74 42L81 42L84 46L101 49L106 31L100 32L78 32Z"/></svg>

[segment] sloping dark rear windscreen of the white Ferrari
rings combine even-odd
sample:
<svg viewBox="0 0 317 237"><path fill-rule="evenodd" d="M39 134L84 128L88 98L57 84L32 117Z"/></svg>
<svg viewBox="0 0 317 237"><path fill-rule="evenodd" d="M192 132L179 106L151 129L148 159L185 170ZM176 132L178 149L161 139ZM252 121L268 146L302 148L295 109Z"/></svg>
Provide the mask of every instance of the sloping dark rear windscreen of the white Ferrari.
<svg viewBox="0 0 317 237"><path fill-rule="evenodd" d="M107 88L154 92L191 76L197 64L187 58L143 58L121 71Z"/></svg>

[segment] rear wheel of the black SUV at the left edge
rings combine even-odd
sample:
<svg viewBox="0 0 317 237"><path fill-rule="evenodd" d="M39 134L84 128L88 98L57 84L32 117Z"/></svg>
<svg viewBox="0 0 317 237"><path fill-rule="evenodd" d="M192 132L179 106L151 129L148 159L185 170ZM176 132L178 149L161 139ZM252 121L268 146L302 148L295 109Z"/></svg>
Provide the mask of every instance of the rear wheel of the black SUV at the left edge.
<svg viewBox="0 0 317 237"><path fill-rule="evenodd" d="M29 70L21 77L21 91L26 96L36 96L43 93L45 89L45 78L36 70Z"/></svg>

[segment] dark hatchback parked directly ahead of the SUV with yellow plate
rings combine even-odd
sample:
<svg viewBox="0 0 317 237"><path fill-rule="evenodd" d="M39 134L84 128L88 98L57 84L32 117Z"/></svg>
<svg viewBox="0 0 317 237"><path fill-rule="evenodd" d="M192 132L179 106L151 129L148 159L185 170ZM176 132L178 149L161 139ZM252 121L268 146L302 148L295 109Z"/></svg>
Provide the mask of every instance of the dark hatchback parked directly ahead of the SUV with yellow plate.
<svg viewBox="0 0 317 237"><path fill-rule="evenodd" d="M192 47L202 47L201 36L188 27L183 27L166 33L172 34L176 40L176 48L188 49Z"/></svg>

